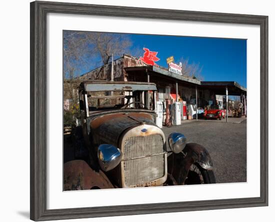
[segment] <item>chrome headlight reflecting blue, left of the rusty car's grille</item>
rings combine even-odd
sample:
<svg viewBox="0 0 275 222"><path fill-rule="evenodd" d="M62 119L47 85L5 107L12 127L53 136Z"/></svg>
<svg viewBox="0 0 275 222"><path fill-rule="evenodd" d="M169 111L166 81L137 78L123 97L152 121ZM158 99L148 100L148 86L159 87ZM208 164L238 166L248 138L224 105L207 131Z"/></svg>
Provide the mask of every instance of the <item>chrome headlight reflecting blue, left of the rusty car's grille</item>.
<svg viewBox="0 0 275 222"><path fill-rule="evenodd" d="M101 144L98 146L97 157L101 169L109 171L120 163L122 155L117 147Z"/></svg>

